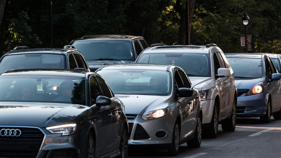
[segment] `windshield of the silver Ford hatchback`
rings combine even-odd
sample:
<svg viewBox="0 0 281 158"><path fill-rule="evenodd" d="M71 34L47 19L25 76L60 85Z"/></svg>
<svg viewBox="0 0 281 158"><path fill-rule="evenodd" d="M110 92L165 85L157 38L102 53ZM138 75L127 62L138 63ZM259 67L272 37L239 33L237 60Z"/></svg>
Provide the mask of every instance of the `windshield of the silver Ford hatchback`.
<svg viewBox="0 0 281 158"><path fill-rule="evenodd" d="M101 70L97 71L114 94L143 94L167 96L170 92L170 74L157 70Z"/></svg>

